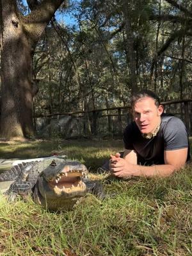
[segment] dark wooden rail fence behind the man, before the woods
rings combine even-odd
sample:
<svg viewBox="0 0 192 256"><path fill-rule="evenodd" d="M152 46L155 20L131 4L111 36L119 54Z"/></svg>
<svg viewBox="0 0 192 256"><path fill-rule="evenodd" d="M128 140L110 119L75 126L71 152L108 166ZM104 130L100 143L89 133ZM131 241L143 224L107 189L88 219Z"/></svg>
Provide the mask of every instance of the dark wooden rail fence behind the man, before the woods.
<svg viewBox="0 0 192 256"><path fill-rule="evenodd" d="M192 100L170 100L167 102L161 102L164 105L166 113L172 113L175 116L179 116L186 124L189 135L192 134ZM35 116L34 121L36 124L36 118L48 118L48 119L58 119L62 116L71 116L72 118L83 118L85 120L85 125L90 125L90 134L93 136L99 135L100 132L108 131L108 133L116 133L122 135L124 127L129 124L132 120L131 116L131 105L111 107L111 108L100 108L92 109L87 111L73 111L64 113L52 113L47 115ZM101 122L101 118L103 122ZM105 119L104 119L105 118ZM115 122L115 124L114 124ZM100 124L100 128L99 128ZM115 126L115 128L113 128ZM85 129L85 128L84 128ZM88 131L88 129L85 129ZM86 131L84 131L86 133ZM99 132L100 131L100 132Z"/></svg>

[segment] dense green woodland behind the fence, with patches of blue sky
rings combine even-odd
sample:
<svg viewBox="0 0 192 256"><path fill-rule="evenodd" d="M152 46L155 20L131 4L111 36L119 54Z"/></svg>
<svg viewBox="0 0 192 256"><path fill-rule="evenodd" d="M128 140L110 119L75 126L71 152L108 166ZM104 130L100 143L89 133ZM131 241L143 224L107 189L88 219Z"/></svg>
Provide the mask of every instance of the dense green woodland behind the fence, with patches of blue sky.
<svg viewBox="0 0 192 256"><path fill-rule="evenodd" d="M17 1L17 8L28 17L30 4L43 2L47 1ZM33 84L38 88L33 116L85 111L86 133L97 134L94 115L95 120L107 116L104 123L111 132L118 113L110 117L109 111L96 110L128 106L138 90L154 90L163 102L190 100L191 5L173 0L63 2L33 52ZM185 109L189 117L191 109L191 104ZM168 111L182 117L184 105L175 104Z"/></svg>

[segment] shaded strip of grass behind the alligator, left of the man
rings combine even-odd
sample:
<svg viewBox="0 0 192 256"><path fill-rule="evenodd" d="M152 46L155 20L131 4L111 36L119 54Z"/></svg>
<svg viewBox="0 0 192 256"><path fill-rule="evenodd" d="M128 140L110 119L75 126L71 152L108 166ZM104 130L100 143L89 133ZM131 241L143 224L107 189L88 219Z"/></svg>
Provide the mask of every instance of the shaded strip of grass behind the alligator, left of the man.
<svg viewBox="0 0 192 256"><path fill-rule="evenodd" d="M69 159L81 161L91 172L95 172L109 159L110 154L118 152L122 147L120 140L36 140L22 143L0 143L0 155L4 159L29 159L53 154L66 155Z"/></svg>

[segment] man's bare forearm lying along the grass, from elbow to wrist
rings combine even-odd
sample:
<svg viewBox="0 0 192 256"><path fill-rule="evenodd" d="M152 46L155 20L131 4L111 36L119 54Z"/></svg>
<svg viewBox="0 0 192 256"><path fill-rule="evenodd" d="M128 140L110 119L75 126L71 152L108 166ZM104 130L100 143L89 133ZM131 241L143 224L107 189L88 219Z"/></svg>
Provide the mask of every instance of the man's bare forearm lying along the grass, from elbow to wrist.
<svg viewBox="0 0 192 256"><path fill-rule="evenodd" d="M144 177L166 177L171 175L175 170L172 164L156 164L152 166L142 166L139 164L131 164L132 176Z"/></svg>

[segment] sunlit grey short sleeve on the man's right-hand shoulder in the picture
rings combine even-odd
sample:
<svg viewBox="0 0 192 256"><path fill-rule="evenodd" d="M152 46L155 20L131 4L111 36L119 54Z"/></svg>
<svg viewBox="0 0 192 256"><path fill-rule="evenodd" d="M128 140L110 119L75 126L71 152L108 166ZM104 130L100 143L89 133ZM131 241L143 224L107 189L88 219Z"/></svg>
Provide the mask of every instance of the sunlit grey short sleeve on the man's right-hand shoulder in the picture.
<svg viewBox="0 0 192 256"><path fill-rule="evenodd" d="M164 150L188 148L188 132L182 120L173 116L164 127Z"/></svg>

